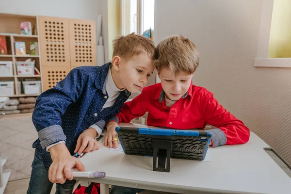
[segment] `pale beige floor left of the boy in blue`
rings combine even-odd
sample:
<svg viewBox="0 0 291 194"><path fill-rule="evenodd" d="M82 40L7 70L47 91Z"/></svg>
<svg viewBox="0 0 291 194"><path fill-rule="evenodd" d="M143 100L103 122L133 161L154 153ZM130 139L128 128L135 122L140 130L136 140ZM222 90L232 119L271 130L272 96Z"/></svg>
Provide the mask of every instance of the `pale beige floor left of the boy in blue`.
<svg viewBox="0 0 291 194"><path fill-rule="evenodd" d="M30 177L34 155L32 143L36 139L32 114L7 115L0 119L0 153L8 159L4 169L12 170L9 181Z"/></svg>

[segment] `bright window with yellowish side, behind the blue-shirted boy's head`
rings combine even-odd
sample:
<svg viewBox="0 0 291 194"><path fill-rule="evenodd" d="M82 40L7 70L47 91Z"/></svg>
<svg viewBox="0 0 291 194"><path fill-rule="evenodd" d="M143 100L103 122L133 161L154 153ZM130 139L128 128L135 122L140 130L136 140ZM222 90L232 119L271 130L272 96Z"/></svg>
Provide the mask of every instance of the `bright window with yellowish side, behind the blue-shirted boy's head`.
<svg viewBox="0 0 291 194"><path fill-rule="evenodd" d="M118 35L135 32L153 39L155 0L108 0L108 56ZM151 31L149 31L151 29Z"/></svg>

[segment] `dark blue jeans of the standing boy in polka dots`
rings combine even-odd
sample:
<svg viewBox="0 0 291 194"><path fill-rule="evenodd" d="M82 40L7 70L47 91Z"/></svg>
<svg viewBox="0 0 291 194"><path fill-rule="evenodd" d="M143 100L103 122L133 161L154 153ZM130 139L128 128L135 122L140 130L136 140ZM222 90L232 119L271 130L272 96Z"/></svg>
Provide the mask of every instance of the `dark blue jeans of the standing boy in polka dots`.
<svg viewBox="0 0 291 194"><path fill-rule="evenodd" d="M56 194L72 194L76 180L66 180L64 184L56 185ZM35 150L32 162L32 175L27 194L50 194L53 183L49 181L49 172L46 169L41 154Z"/></svg>

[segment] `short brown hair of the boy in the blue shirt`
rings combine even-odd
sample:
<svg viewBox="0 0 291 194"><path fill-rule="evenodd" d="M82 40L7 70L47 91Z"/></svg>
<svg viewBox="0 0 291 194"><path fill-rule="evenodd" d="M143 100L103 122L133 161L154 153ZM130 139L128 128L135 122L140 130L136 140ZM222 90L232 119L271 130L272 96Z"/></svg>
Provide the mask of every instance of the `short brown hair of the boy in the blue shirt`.
<svg viewBox="0 0 291 194"><path fill-rule="evenodd" d="M113 57L118 55L128 59L146 51L151 59L154 59L156 47L153 41L142 35L131 33L113 40Z"/></svg>

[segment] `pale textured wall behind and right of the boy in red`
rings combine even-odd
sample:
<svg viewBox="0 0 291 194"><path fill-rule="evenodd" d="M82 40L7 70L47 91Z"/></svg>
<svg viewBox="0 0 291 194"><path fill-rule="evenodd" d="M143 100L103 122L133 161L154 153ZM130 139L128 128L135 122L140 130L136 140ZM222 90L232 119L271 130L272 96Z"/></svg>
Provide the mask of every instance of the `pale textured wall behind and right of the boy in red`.
<svg viewBox="0 0 291 194"><path fill-rule="evenodd" d="M256 68L262 0L157 0L155 35L182 34L201 53L194 84L291 163L291 69Z"/></svg>

